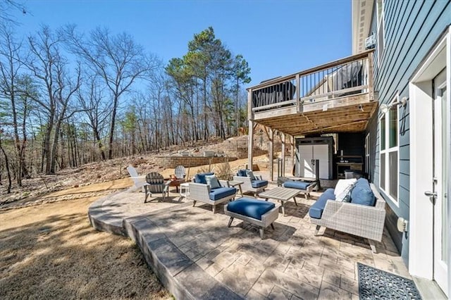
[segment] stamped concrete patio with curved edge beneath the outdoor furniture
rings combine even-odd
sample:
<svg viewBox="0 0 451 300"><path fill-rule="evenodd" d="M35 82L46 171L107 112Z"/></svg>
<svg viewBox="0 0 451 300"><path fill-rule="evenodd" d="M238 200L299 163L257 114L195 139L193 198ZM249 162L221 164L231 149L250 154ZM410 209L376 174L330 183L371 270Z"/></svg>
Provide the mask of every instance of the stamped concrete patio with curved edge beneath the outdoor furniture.
<svg viewBox="0 0 451 300"><path fill-rule="evenodd" d="M318 195L289 201L264 239L240 220L227 227L222 206L215 214L206 204L192 207L175 189L147 204L140 192L111 194L89 218L98 230L134 239L177 299L359 299L358 262L411 278L387 232L376 254L342 232L315 237L308 210Z"/></svg>

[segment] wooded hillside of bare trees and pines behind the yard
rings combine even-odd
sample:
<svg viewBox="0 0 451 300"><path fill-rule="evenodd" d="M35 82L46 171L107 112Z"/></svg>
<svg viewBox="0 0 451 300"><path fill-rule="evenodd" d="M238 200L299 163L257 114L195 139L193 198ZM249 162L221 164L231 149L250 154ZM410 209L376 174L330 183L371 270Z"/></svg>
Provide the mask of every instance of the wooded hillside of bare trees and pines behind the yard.
<svg viewBox="0 0 451 300"><path fill-rule="evenodd" d="M2 10L16 8L6 1ZM0 17L1 18L1 17ZM132 32L0 28L0 184L247 127L250 68L212 27L161 61Z"/></svg>

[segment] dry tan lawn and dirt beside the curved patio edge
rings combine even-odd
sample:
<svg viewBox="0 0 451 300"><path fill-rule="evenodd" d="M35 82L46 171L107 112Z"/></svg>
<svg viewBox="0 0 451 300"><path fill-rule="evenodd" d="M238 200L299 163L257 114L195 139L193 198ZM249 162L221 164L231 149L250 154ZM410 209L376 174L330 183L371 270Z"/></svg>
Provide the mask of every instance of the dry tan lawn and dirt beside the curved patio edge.
<svg viewBox="0 0 451 300"><path fill-rule="evenodd" d="M130 178L68 185L32 206L0 211L0 299L171 299L130 239L89 224L93 201L131 185Z"/></svg>

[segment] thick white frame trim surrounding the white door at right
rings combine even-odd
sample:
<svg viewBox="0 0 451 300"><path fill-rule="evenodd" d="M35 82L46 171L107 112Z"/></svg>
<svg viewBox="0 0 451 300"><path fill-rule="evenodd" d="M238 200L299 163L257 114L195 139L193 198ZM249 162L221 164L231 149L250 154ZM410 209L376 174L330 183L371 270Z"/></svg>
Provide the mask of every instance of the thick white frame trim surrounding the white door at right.
<svg viewBox="0 0 451 300"><path fill-rule="evenodd" d="M433 205L424 192L433 189L432 80L443 70L443 49L450 82L450 30L409 82L410 208L409 273L433 279ZM439 59L437 59L439 58ZM451 85L448 85L451 86ZM450 269L450 268L449 268ZM450 276L448 275L448 280Z"/></svg>

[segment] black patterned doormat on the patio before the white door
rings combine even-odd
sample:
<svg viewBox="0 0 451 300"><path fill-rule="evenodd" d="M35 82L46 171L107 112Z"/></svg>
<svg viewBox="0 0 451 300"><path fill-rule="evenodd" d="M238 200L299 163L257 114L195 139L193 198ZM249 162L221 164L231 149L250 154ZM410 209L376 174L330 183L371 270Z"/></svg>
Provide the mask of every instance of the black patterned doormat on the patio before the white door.
<svg viewBox="0 0 451 300"><path fill-rule="evenodd" d="M415 282L357 263L360 299L421 299Z"/></svg>

